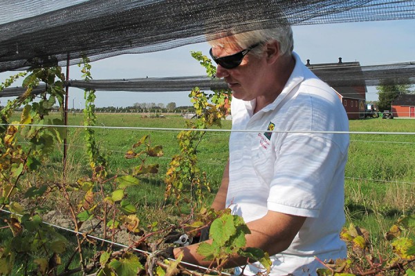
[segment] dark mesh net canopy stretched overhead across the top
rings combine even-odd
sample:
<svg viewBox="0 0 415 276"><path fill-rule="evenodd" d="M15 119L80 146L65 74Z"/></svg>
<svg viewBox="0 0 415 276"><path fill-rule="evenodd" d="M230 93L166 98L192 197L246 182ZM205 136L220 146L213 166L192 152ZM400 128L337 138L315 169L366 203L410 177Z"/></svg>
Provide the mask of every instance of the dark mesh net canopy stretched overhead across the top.
<svg viewBox="0 0 415 276"><path fill-rule="evenodd" d="M167 50L225 30L415 18L414 0L1 0L0 6L0 72Z"/></svg>

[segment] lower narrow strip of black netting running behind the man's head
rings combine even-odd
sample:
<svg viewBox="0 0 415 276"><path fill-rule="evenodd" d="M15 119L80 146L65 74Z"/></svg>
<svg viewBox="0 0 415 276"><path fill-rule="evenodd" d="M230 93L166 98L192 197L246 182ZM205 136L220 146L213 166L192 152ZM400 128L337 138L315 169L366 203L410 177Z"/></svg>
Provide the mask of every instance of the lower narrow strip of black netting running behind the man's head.
<svg viewBox="0 0 415 276"><path fill-rule="evenodd" d="M308 68L333 88L342 89L344 97L364 99L352 87L378 86L380 84L415 83L415 61L377 66L360 66L358 62L308 64ZM201 90L226 89L223 79L210 79L205 76L166 77L142 79L102 79L91 81L68 81L68 86L88 88L98 91L132 91L132 92L174 92L190 91L194 87ZM349 89L350 88L350 89ZM33 93L42 92L45 86L39 86ZM25 88L6 88L0 97L19 96Z"/></svg>

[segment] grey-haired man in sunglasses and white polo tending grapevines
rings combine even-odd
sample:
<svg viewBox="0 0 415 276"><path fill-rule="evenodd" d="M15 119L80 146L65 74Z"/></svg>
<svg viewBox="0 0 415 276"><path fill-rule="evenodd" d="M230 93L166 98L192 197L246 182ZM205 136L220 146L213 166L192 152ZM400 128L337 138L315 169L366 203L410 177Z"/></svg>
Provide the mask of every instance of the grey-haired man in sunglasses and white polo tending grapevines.
<svg viewBox="0 0 415 276"><path fill-rule="evenodd" d="M339 233L349 135L335 133L348 131L342 103L292 52L289 26L230 34L211 45L216 77L233 95L230 158L212 207L243 217L247 246L271 256L270 275L315 275L322 267L315 257L346 257ZM198 246L175 248L174 255L208 266ZM246 262L232 259L234 266ZM243 274L258 271L253 264Z"/></svg>

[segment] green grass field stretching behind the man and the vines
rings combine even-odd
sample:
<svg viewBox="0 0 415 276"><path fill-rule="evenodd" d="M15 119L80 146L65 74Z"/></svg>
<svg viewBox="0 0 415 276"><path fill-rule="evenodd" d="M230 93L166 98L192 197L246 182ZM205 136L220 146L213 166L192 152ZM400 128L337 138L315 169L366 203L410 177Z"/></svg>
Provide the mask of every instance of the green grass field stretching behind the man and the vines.
<svg viewBox="0 0 415 276"><path fill-rule="evenodd" d="M69 115L68 124L82 126L80 114ZM129 189L129 198L138 208L142 224L154 220L163 221L169 214L177 215L173 204L164 204L165 172L169 161L179 151L176 136L178 130L138 130L120 127L139 128L185 128L185 119L180 116L163 118L142 117L141 115L98 115L96 139L101 151L109 161L110 174L127 171L137 165L134 159L125 159L124 153L143 135L150 135L153 146L163 146L163 157L151 157L150 163L160 164L157 175L142 179L140 188ZM116 127L116 128L108 128ZM223 129L230 129L231 122L223 121ZM365 119L350 121L352 132L349 148L349 161L345 176L347 224L366 228L371 233L374 246L382 248L383 235L401 215L415 213L415 135L396 132L414 132L414 119ZM389 132L390 134L369 134L365 132ZM228 138L230 132L207 132L198 148L199 166L208 176L212 201L228 159ZM68 139L68 178L90 175L85 154L83 128L70 128ZM44 176L60 178L62 175L63 145L50 156L44 167ZM47 176L46 176L47 175ZM162 208L164 207L164 208ZM59 206L59 200L54 208Z"/></svg>

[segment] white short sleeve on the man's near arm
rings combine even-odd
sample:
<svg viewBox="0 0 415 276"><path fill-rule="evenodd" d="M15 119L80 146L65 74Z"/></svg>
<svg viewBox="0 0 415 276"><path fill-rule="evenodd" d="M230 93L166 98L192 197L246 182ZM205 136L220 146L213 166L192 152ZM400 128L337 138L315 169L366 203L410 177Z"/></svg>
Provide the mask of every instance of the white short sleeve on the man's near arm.
<svg viewBox="0 0 415 276"><path fill-rule="evenodd" d="M318 217L326 196L336 186L334 174L344 159L340 148L322 135L293 133L275 150L268 210Z"/></svg>

